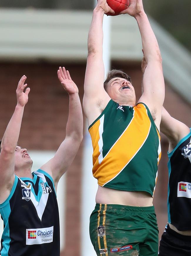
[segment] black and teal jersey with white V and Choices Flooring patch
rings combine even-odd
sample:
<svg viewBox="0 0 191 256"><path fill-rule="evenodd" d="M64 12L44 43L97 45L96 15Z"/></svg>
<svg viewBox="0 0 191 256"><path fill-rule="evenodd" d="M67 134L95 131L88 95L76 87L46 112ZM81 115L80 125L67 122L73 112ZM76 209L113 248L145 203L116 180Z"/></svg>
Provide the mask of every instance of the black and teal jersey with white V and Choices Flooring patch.
<svg viewBox="0 0 191 256"><path fill-rule="evenodd" d="M33 179L15 175L9 197L0 204L4 231L1 256L60 255L58 204L52 177L38 169Z"/></svg>

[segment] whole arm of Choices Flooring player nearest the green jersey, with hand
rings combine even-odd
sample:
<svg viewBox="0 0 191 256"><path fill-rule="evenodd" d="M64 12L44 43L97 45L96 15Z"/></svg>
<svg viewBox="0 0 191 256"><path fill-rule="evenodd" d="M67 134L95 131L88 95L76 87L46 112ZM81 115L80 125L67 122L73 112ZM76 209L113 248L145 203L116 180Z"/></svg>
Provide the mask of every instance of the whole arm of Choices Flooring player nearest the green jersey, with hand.
<svg viewBox="0 0 191 256"><path fill-rule="evenodd" d="M83 115L78 87L72 81L69 71L63 67L58 70L58 79L69 94L69 115L66 125L66 138L59 146L55 156L41 169L48 172L57 188L61 176L73 162L83 138Z"/></svg>

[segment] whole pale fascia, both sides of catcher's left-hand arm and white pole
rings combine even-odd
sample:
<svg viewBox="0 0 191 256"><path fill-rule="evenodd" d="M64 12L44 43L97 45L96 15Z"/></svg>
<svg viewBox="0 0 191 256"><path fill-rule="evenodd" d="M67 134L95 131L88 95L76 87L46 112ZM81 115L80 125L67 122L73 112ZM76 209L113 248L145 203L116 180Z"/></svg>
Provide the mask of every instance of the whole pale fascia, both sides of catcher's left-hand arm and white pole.
<svg viewBox="0 0 191 256"><path fill-rule="evenodd" d="M86 61L91 18L87 11L0 9L0 58ZM112 59L140 60L141 40L134 40L139 37L134 19L112 17L111 35Z"/></svg>

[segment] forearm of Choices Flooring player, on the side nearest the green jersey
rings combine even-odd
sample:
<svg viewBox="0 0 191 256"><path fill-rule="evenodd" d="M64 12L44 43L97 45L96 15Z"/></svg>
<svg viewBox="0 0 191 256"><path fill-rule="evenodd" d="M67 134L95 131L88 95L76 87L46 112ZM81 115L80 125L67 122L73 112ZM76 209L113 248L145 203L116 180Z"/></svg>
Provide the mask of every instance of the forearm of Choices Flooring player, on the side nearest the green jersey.
<svg viewBox="0 0 191 256"><path fill-rule="evenodd" d="M81 141L83 137L83 115L78 93L69 95L69 115L66 125L66 137Z"/></svg>

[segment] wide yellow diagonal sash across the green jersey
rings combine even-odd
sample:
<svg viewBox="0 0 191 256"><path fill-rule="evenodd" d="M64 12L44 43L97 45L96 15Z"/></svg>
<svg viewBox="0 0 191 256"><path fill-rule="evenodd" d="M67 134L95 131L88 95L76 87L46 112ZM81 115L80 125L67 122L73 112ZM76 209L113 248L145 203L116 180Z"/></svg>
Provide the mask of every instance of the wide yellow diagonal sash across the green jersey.
<svg viewBox="0 0 191 256"><path fill-rule="evenodd" d="M151 122L144 105L134 107L134 118L118 139L101 164L98 159L93 166L93 174L98 184L103 186L113 179L139 151L150 131ZM141 129L141 130L140 130ZM124 154L125 152L125 154Z"/></svg>

